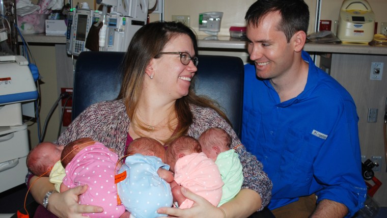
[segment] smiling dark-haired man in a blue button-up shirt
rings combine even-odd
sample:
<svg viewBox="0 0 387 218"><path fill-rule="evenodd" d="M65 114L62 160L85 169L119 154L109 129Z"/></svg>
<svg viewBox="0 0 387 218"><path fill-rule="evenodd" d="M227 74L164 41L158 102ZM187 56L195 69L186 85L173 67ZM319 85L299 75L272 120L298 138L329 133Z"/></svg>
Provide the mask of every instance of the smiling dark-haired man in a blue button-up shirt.
<svg viewBox="0 0 387 218"><path fill-rule="evenodd" d="M242 143L273 182L276 217L344 217L363 207L357 113L350 94L307 52L302 0L259 0L247 11ZM316 206L317 205L317 206Z"/></svg>

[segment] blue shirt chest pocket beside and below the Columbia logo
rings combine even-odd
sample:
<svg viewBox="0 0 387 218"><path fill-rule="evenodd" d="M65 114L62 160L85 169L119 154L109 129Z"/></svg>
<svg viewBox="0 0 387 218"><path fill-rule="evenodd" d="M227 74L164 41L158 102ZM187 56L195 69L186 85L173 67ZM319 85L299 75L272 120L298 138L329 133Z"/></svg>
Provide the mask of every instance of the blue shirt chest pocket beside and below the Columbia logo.
<svg viewBox="0 0 387 218"><path fill-rule="evenodd" d="M307 130L289 128L285 134L285 147L281 156L281 178L295 186L310 183L313 178L313 162L323 141Z"/></svg>

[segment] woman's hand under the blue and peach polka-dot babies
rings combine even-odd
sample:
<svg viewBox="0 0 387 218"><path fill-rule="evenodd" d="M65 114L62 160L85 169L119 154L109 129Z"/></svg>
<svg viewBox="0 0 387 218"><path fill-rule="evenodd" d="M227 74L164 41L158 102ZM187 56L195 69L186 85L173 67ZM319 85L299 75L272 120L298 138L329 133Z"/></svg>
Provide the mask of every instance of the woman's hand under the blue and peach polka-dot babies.
<svg viewBox="0 0 387 218"><path fill-rule="evenodd" d="M191 201L194 201L189 209L178 209L173 207L161 207L157 210L158 213L168 214L177 217L219 217L223 218L223 212L219 208L213 206L203 197L192 193L187 188L181 187L181 193Z"/></svg>

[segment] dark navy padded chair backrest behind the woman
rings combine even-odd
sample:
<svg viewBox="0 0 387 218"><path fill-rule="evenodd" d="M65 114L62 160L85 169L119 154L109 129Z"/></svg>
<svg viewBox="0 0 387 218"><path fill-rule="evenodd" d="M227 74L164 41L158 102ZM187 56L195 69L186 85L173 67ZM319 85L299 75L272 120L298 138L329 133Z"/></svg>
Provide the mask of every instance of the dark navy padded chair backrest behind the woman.
<svg viewBox="0 0 387 218"><path fill-rule="evenodd" d="M72 119L93 103L117 97L124 52L85 51L78 56L73 84ZM240 135L243 99L243 62L231 56L198 56L195 90L215 100Z"/></svg>

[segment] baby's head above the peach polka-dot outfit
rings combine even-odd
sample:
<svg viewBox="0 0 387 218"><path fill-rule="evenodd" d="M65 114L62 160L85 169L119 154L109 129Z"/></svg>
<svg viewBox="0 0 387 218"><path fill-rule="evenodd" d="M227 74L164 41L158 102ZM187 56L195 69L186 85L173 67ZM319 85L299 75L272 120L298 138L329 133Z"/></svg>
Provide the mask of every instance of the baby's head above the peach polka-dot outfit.
<svg viewBox="0 0 387 218"><path fill-rule="evenodd" d="M165 151L165 163L171 167L172 172L175 172L175 164L179 158L200 152L202 152L202 148L198 140L184 135L168 145L167 151Z"/></svg>

